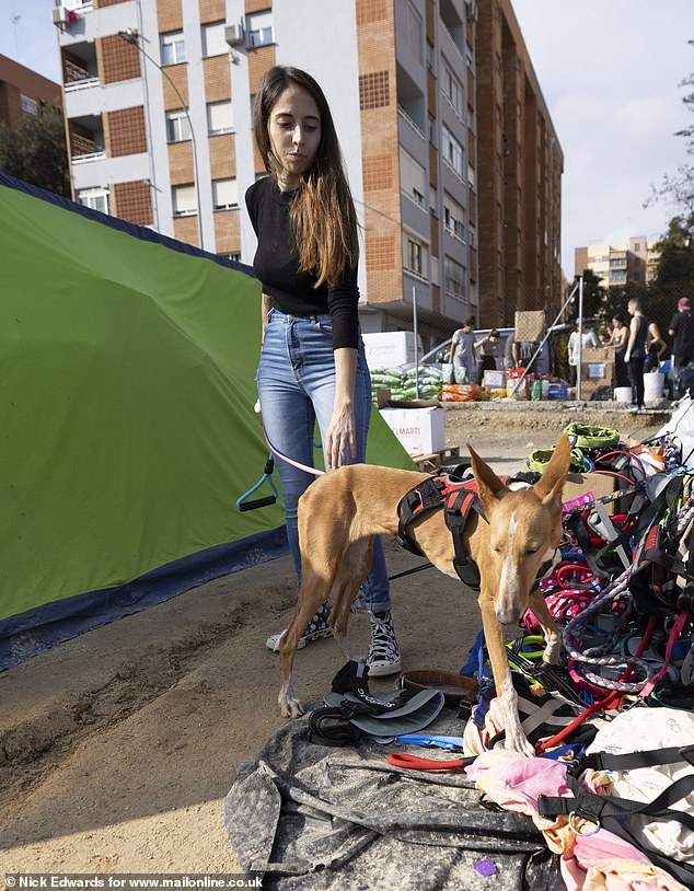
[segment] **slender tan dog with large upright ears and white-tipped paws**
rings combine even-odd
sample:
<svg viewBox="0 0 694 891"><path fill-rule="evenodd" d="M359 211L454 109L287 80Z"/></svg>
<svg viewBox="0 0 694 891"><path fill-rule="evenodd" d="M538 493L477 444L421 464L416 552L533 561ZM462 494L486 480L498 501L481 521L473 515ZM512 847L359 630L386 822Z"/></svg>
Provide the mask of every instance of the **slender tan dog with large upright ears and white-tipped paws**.
<svg viewBox="0 0 694 891"><path fill-rule="evenodd" d="M544 660L556 664L559 635L536 590L540 566L562 540L562 489L569 468L569 442L562 437L541 479L531 488L511 490L469 445L472 470L487 522L471 517L463 544L481 572L477 599L491 671L500 697L506 748L533 754L518 717L518 697L506 658L502 625L519 621L529 603L542 625ZM397 532L401 498L427 474L352 464L316 479L299 501L301 590L293 618L280 643L279 707L285 717L302 714L291 687L291 670L299 637L328 599L337 581L329 625L346 658L351 603L371 566L374 535ZM458 578L454 548L443 511L415 520L409 535L427 558L447 576Z"/></svg>

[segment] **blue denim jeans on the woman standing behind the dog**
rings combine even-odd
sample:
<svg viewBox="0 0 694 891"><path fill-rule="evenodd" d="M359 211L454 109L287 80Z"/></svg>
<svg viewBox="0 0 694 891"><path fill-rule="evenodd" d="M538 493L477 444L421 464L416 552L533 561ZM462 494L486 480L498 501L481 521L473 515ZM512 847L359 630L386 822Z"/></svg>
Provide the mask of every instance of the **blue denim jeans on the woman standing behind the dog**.
<svg viewBox="0 0 694 891"><path fill-rule="evenodd" d="M263 424L267 437L281 454L313 466L313 435L317 419L321 441L325 442L335 398L335 357L329 315L286 315L270 310L257 374ZM359 339L355 382L355 424L357 454L354 463L363 463L371 417L371 379ZM315 478L275 455L285 499L285 519L289 549L301 583L301 553L297 525L299 497ZM373 563L363 583L371 611L391 608L390 586L383 544L377 537Z"/></svg>

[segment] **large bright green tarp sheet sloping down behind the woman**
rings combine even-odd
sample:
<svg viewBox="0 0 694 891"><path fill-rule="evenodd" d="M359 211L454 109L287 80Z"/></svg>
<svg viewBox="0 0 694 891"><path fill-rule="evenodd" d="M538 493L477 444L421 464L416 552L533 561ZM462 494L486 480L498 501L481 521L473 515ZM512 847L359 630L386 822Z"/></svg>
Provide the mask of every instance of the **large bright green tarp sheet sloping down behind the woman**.
<svg viewBox="0 0 694 891"><path fill-rule="evenodd" d="M0 185L0 620L284 522L258 282ZM371 463L412 467L374 413ZM263 494L263 493L259 493Z"/></svg>

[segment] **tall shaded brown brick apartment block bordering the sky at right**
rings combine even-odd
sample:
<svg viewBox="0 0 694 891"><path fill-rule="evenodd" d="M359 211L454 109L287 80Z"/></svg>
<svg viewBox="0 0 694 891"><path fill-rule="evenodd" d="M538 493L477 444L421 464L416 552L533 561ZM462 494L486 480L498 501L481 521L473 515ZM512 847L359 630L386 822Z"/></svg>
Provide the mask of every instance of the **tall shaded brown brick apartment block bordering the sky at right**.
<svg viewBox="0 0 694 891"><path fill-rule="evenodd" d="M564 154L510 0L477 22L479 292L485 324L563 303Z"/></svg>

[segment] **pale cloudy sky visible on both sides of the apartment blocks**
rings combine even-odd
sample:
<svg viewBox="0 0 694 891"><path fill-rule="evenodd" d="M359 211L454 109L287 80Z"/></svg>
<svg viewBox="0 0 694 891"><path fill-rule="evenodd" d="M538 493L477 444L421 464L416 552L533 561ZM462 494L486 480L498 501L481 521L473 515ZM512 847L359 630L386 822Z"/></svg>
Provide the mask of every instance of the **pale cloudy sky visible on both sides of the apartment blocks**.
<svg viewBox="0 0 694 891"><path fill-rule="evenodd" d="M694 72L694 0L512 3L564 151L562 265L571 279L575 247L656 239L674 212L644 202L686 160L674 132L694 124L678 85ZM51 7L0 0L0 55L58 81Z"/></svg>

